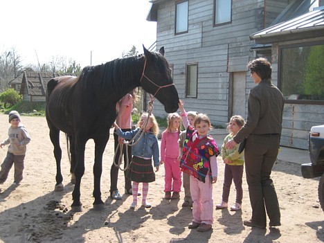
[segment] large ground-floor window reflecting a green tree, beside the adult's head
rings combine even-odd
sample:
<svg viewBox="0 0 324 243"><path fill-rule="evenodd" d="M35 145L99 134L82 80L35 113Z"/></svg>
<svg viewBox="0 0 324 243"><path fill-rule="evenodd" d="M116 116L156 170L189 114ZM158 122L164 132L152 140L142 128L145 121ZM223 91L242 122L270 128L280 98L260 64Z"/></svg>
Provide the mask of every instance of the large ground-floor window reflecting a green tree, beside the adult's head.
<svg viewBox="0 0 324 243"><path fill-rule="evenodd" d="M324 103L324 43L280 46L279 63L286 102Z"/></svg>

